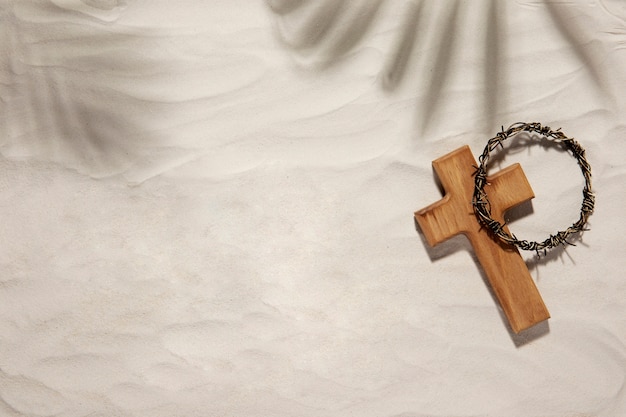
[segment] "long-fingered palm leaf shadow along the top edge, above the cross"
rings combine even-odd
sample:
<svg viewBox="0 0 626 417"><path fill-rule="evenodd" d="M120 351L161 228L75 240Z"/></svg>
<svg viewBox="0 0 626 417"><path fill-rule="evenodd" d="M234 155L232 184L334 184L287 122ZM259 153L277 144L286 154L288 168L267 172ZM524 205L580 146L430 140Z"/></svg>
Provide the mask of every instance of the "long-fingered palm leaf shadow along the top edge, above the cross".
<svg viewBox="0 0 626 417"><path fill-rule="evenodd" d="M267 0L270 9L278 21L279 37L283 42L298 53L317 55L313 60L316 67L332 66L353 50L364 38L377 21L376 17L382 10L384 0L326 0L322 3L309 0ZM399 25L392 50L385 54L387 60L381 66L381 84L388 91L397 89L404 78L411 73L411 65L415 64L418 52L416 44L425 37L424 27L426 18L431 13L424 12L424 4L430 7L440 7L441 13L435 17L436 30L434 63L432 69L424 67L423 61L418 61L425 74L421 82L425 85L425 94L421 96L418 115L419 129L422 134L427 132L434 123L435 114L440 110L442 93L449 82L450 69L454 63L456 50L462 47L459 39L459 27L464 23L463 7L476 7L476 3L466 4L460 0L447 2L427 2L425 0L407 1L404 4L404 19ZM502 109L503 86L508 84L506 66L503 58L503 34L507 27L505 2L498 0L484 0L485 14L482 26L485 27L482 59L484 87L481 93L483 110L487 127L493 130L499 123L496 122ZM579 61L591 75L594 84L602 91L606 91L606 82L603 77L601 60L594 55L595 49L585 43L584 31L569 19L567 13L561 13L561 6L546 2L545 9L549 13L555 27L564 39L572 46ZM351 10L352 12L348 12ZM356 10L356 11L355 11ZM541 9L538 9L541 10ZM297 13L296 13L297 12ZM292 15L306 15L301 20L300 27L286 31L285 22L290 21ZM571 20L571 21L570 21ZM297 26L297 25L296 25ZM315 48L314 48L315 47ZM316 49L317 48L317 49ZM420 58L420 57L417 57ZM424 71L425 70L425 71Z"/></svg>

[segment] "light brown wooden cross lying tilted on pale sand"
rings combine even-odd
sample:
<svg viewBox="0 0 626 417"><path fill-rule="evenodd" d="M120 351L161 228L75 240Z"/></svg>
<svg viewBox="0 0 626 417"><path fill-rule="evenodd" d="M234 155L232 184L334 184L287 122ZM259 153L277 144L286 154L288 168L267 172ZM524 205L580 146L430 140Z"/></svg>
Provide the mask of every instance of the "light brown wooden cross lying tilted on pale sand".
<svg viewBox="0 0 626 417"><path fill-rule="evenodd" d="M435 246L459 233L470 240L509 324L515 333L550 318L550 313L517 248L496 240L481 227L472 206L477 166L469 146L433 161L445 190L443 199L415 213L428 244ZM504 223L504 212L535 195L519 164L487 178L491 216Z"/></svg>

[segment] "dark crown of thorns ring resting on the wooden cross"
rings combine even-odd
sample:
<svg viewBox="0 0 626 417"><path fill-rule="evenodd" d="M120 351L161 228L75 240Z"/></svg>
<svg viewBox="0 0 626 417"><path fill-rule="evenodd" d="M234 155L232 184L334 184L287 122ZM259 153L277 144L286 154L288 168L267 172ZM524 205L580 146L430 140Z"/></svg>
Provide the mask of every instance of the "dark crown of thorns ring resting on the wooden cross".
<svg viewBox="0 0 626 417"><path fill-rule="evenodd" d="M585 177L585 186L583 187L583 202L580 208L580 217L570 227L565 230L556 232L550 235L543 242L534 242L528 240L520 240L515 235L508 233L504 230L505 224L494 220L491 217L491 204L487 198L487 193L484 191L487 184L487 164L491 152L493 152L498 146L504 148L502 142L508 138L517 135L521 132L537 133L545 138L561 144L567 151L571 152L578 166ZM478 157L479 166L476 167L474 173L474 195L472 198L472 204L474 206L474 212L478 217L479 222L487 227L497 238L510 245L515 245L523 250L531 250L539 254L540 251L546 253L547 249L554 248L559 245L574 245L568 241L568 238L574 234L580 233L585 229L588 217L593 212L595 204L595 196L591 191L591 166L585 157L585 150L574 139L565 136L561 132L560 128L552 130L548 126L542 126L541 123L514 123L507 130L498 132L496 136L489 139L487 146L483 150L482 155Z"/></svg>

